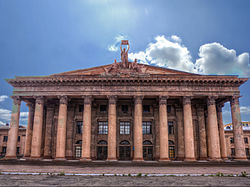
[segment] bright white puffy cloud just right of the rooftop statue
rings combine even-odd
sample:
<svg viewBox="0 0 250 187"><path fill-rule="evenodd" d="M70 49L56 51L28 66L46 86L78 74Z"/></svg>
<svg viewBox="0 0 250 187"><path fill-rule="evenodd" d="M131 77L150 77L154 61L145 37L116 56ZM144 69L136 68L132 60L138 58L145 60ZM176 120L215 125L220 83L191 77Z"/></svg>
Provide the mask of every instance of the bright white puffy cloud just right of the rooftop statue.
<svg viewBox="0 0 250 187"><path fill-rule="evenodd" d="M134 60L137 57L141 63L196 72L190 52L180 43L181 39L173 35L171 40L166 39L165 36L157 36L155 42L150 43L145 51L130 53L129 58Z"/></svg>

